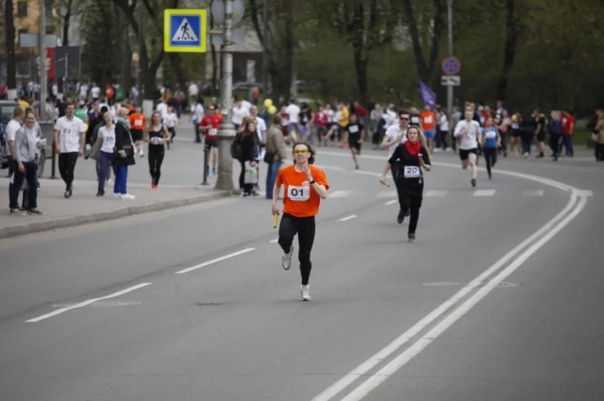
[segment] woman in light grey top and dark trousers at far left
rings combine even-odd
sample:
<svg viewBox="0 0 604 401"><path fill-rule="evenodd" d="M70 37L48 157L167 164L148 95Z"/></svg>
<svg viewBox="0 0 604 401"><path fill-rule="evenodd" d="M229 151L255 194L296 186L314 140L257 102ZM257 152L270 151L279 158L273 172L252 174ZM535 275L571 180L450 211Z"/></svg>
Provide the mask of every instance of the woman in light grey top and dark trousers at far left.
<svg viewBox="0 0 604 401"><path fill-rule="evenodd" d="M25 114L25 124L14 135L14 176L10 188L10 214L23 216L17 203L19 191L23 182L27 180L28 210L27 214L42 214L37 208L37 168L38 154L36 149L42 147L42 142L37 139L36 115L32 110Z"/></svg>

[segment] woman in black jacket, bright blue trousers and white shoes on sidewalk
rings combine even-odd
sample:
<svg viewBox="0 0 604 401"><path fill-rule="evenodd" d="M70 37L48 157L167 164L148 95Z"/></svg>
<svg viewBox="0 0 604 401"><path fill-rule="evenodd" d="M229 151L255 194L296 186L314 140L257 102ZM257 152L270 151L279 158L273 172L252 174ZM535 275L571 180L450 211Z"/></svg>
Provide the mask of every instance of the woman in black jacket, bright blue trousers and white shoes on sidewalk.
<svg viewBox="0 0 604 401"><path fill-rule="evenodd" d="M134 165L135 144L128 129L128 109L121 107L118 111L117 124L115 124L115 152L114 152L114 199L132 201L134 195L126 190L128 179L128 166Z"/></svg>

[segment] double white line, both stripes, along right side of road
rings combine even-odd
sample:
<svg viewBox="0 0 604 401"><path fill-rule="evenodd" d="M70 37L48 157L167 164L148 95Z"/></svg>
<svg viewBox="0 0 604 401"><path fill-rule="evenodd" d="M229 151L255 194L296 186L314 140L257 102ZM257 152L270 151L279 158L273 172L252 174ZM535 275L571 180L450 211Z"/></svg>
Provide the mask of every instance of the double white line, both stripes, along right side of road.
<svg viewBox="0 0 604 401"><path fill-rule="evenodd" d="M556 183L558 184L558 183ZM489 282L481 287L479 290L474 292L474 294L467 298L460 306L456 309L452 310L448 315L446 315L442 320L440 320L431 330L429 330L425 335L419 338L413 345L403 350L399 353L394 359L392 359L387 365L381 368L376 373L373 373L369 376L367 380L362 382L358 387L354 388L352 392L350 392L347 396L345 396L342 401L353 401L353 400L361 400L367 394L370 393L371 390L379 386L382 382L384 382L388 377L392 376L396 373L397 370L403 367L407 362L413 359L414 356L419 354L424 348L428 347L432 341L437 339L446 329L452 326L461 316L465 315L472 307L474 307L480 300L486 297L489 292L495 288L501 281L505 280L510 274L512 274L519 266L524 263L531 255L533 255L539 248L541 248L545 243L551 240L557 233L559 233L565 226L568 225L576 216L579 214L585 204L587 203L588 194L582 191L574 190L574 188L567 187L566 190L573 189L570 200L566 207L558 213L553 219L551 219L547 224L542 226L538 231L536 231L532 236L525 239L521 244L513 248L511 251L507 252L500 260L496 261L496 263L470 283L468 283L465 287L460 289L457 294L453 295L451 298L445 301L442 305L434 309L429 315L425 318L417 322L413 327L407 330L405 333L399 336L399 338L395 339L393 342L388 344L385 348L383 348L378 353L371 356L371 358L367 359L367 361L363 362L361 365L356 367L354 370L350 371L350 373L346 374L344 377L339 379L329 388L327 388L323 393L319 394L312 401L328 401L333 399L337 394L341 393L346 387L348 387L351 383L353 383L359 377L367 377L367 373L376 367L381 362L384 362L387 358L393 356L394 353L399 351L399 348L406 344L406 342L410 341L414 336L419 334L423 329L425 329L429 324L434 322L436 319L445 315L446 312L449 312L449 309L454 307L458 302L461 301L462 298L466 297L466 295L470 294L473 290L475 290L478 286L480 286L487 278L496 274L496 272L500 271L500 269L506 265L512 258L518 255L522 249L522 252L515 260L512 261L506 268L501 270L499 274L493 277Z"/></svg>

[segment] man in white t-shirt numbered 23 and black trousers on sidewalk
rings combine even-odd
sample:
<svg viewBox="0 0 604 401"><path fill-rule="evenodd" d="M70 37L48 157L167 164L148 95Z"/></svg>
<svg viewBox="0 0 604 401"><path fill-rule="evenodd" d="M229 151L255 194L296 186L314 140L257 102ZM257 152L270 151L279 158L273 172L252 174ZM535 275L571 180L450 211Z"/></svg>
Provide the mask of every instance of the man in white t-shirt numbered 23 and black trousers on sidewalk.
<svg viewBox="0 0 604 401"><path fill-rule="evenodd" d="M74 116L75 110L76 106L69 101L65 107L65 116L57 119L54 124L55 152L59 155L59 173L65 181L65 198L72 195L71 184L74 181L77 158L84 154L84 122Z"/></svg>

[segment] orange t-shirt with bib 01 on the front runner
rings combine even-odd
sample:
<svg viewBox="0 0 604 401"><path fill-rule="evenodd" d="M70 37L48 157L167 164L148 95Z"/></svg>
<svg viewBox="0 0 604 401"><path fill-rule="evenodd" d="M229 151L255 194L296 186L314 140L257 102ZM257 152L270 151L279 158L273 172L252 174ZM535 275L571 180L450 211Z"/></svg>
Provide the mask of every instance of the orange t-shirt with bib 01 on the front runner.
<svg viewBox="0 0 604 401"><path fill-rule="evenodd" d="M323 170L310 165L310 175L317 184L325 185L325 188L329 189L329 182ZM298 173L294 165L283 167L277 172L275 185L277 188L285 185L283 213L294 217L311 217L319 213L321 197L307 181L306 174Z"/></svg>

